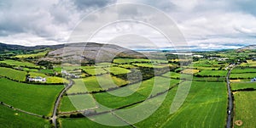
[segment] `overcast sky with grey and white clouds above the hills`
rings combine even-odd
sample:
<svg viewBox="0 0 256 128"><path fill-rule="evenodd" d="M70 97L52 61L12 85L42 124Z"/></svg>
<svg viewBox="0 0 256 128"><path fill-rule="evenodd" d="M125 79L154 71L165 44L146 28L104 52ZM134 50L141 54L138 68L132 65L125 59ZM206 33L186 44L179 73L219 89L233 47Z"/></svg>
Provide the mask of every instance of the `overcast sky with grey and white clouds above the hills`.
<svg viewBox="0 0 256 128"><path fill-rule="evenodd" d="M143 13L134 6L108 9L120 3L148 5L162 12L161 17L166 14L172 22L157 19L154 17L157 13L150 14L154 10L148 8ZM0 42L25 46L111 42L133 49L170 48L173 44L194 49L237 48L256 44L255 6L254 0L2 0ZM154 19L154 25L141 22L107 25L108 20L124 17L142 19L143 23ZM163 31L168 31L172 25L183 35L182 40L167 40L166 33L155 29L166 27ZM92 26L99 30L90 40L87 40L89 35L74 39L74 33L87 33L88 29L93 30Z"/></svg>

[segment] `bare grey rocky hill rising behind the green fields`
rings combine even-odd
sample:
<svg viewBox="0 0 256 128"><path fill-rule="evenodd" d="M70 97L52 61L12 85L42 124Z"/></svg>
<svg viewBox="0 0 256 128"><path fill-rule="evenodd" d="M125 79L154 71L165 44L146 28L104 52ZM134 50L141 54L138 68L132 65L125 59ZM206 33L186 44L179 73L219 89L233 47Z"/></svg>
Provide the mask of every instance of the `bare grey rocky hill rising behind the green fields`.
<svg viewBox="0 0 256 128"><path fill-rule="evenodd" d="M70 43L48 53L44 60L53 62L68 63L98 63L111 62L113 58L145 58L142 53L138 53L125 47L113 44L102 44L95 42Z"/></svg>

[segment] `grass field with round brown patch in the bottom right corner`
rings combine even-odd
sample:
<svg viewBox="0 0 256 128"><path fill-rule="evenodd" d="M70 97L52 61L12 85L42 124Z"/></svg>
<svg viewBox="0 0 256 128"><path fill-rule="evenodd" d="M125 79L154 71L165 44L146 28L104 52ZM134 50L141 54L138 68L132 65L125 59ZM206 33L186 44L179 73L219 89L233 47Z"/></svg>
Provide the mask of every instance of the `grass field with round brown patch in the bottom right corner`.
<svg viewBox="0 0 256 128"><path fill-rule="evenodd" d="M242 125L235 128L249 128L256 125L256 92L236 92L235 97L235 120L241 120Z"/></svg>

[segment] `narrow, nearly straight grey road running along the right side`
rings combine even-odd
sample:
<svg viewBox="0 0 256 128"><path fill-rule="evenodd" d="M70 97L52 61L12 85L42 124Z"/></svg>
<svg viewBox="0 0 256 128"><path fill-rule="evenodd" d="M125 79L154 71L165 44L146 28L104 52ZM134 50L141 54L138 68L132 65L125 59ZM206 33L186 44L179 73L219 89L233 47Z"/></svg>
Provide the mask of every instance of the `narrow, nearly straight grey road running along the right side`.
<svg viewBox="0 0 256 128"><path fill-rule="evenodd" d="M235 65L236 66L236 65ZM226 76L226 81L227 81L227 87L228 87L228 93L229 93L229 101L228 101L228 119L227 119L227 128L231 128L231 122L232 122L232 111L233 111L233 97L232 97L232 92L231 92L231 87L230 87L230 73L231 73L231 70L233 70L233 68L235 67L233 66L227 76Z"/></svg>

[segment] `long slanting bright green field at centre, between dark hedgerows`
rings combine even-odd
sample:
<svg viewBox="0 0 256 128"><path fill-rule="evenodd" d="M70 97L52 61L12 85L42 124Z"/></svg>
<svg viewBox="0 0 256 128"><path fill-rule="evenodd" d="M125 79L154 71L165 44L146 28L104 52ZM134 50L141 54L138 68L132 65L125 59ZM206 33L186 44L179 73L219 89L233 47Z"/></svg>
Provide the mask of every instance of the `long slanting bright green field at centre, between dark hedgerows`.
<svg viewBox="0 0 256 128"><path fill-rule="evenodd" d="M131 103L142 101L149 97L150 93L154 96L159 92L165 92L170 86L174 86L177 83L179 83L179 80L170 80L168 78L157 76L147 81L143 81L142 84L137 83L111 92L96 93L94 94L94 97L96 97L97 102L108 108L116 109Z"/></svg>

